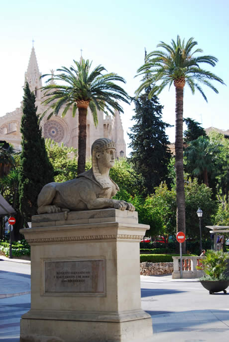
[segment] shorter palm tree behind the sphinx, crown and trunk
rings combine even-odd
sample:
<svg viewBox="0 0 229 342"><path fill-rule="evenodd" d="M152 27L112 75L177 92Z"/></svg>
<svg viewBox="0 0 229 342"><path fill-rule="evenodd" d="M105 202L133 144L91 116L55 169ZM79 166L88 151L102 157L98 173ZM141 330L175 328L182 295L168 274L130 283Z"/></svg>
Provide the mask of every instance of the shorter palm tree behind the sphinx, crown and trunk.
<svg viewBox="0 0 229 342"><path fill-rule="evenodd" d="M42 76L51 76L47 82L60 81L62 83L64 81L66 84L56 85L52 82L43 87L44 97L47 97L43 103L50 104L52 109L48 118L53 114L57 115L63 107L65 108L62 116L71 107L73 117L77 108L79 110L78 174L85 171L88 107L92 111L95 124L97 124L97 111L114 114L114 110L117 110L123 113L123 109L117 101L129 103L127 93L114 83L114 81L125 83L125 80L115 73L102 74L106 69L101 65L90 73L91 64L92 62L90 63L89 60L85 61L81 58L80 62L74 61L74 66L69 69L66 67L57 69L58 72L61 72L58 75Z"/></svg>

